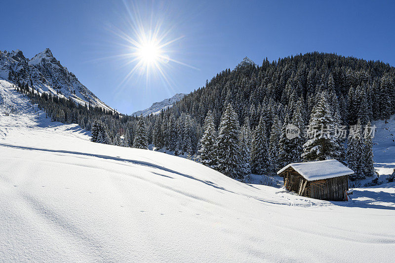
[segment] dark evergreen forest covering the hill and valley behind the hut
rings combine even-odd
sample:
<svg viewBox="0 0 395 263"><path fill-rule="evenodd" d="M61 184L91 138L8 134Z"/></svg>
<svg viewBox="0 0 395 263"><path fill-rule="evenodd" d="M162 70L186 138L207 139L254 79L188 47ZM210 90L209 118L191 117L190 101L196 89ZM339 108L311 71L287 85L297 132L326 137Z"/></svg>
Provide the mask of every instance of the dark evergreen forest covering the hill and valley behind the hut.
<svg viewBox="0 0 395 263"><path fill-rule="evenodd" d="M318 52L265 59L261 66L227 69L173 107L147 117L44 94L41 109L53 120L92 130L93 142L141 149L153 144L157 150L197 156L204 165L245 181L250 173L275 173L291 162L333 158L352 168L355 180L374 174L372 141L363 128L395 113L395 68ZM300 129L299 137L287 138L287 124ZM314 138L307 136L307 125L317 128ZM356 131L339 138L334 130L340 126Z"/></svg>

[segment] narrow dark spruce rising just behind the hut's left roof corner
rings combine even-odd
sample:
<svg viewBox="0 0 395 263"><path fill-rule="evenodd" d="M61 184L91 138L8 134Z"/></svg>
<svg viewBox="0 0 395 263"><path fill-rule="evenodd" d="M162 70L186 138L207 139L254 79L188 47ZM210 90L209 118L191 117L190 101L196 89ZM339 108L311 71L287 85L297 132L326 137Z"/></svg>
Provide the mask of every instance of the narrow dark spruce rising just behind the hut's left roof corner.
<svg viewBox="0 0 395 263"><path fill-rule="evenodd" d="M281 135L281 122L278 115L275 115L273 119L273 125L270 132L269 138L269 158L270 158L270 170L272 173L276 174L280 169L279 159L278 159L278 141Z"/></svg>

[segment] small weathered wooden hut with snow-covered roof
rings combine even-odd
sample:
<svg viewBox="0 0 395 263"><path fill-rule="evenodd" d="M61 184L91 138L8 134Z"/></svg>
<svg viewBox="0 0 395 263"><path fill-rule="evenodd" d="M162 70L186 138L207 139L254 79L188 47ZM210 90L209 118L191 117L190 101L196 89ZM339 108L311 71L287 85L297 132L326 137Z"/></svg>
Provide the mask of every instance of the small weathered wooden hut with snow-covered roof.
<svg viewBox="0 0 395 263"><path fill-rule="evenodd" d="M287 190L321 200L346 201L348 176L354 171L337 160L291 163L277 174Z"/></svg>

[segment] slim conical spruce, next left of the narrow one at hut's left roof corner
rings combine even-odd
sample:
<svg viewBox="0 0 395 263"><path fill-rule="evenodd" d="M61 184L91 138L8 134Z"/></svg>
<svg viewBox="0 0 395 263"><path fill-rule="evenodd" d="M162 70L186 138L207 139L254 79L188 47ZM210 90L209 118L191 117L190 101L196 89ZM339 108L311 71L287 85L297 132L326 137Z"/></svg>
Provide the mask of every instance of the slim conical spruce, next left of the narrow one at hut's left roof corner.
<svg viewBox="0 0 395 263"><path fill-rule="evenodd" d="M251 149L251 171L254 174L265 174L270 167L268 137L266 124L261 116L259 124L254 131Z"/></svg>

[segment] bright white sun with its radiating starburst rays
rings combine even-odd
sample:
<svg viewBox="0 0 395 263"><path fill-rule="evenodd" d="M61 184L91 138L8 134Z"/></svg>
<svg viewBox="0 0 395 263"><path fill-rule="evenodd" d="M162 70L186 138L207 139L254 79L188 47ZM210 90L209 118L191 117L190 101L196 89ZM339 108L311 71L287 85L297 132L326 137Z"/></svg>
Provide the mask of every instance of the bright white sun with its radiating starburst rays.
<svg viewBox="0 0 395 263"><path fill-rule="evenodd" d="M175 73L176 66L197 68L180 61L178 43L184 36L175 36L175 25L171 25L168 13L161 14L152 11L152 8L142 8L134 1L124 1L125 25L123 27L111 26L112 35L116 36L116 44L121 47L122 53L114 56L121 60L122 67L128 67L128 73L120 81L116 94L125 88L133 78L145 77L146 88L152 79L160 78L163 88L168 93L174 92L174 81L171 75ZM144 19L143 19L144 18Z"/></svg>

